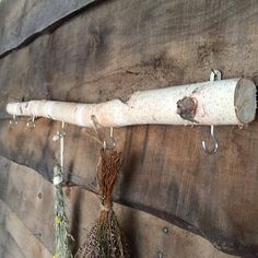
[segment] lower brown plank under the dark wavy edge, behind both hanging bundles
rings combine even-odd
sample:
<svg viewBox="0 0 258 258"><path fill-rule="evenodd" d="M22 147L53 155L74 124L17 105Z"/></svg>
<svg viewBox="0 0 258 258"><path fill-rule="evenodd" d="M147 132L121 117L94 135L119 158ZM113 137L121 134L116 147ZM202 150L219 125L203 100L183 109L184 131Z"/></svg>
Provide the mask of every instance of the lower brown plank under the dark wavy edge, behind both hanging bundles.
<svg viewBox="0 0 258 258"><path fill-rule="evenodd" d="M35 245L33 234L40 233L42 235L37 235L37 238L49 249L54 248L52 185L44 180L35 171L3 157L0 157L0 179L7 185L5 191L0 194L0 199L4 199L12 209L11 212L8 208L9 212L5 219L8 230L19 239L20 247L26 258L48 257L43 255L42 250L36 250L38 244ZM40 198L38 198L39 192ZM66 194L72 232L77 245L80 245L85 241L86 234L99 213L99 200L92 192L78 187L67 188ZM17 198L20 202L17 202ZM21 202L21 200L23 201ZM3 207L7 209L3 201L0 201L0 209L2 210ZM115 204L114 209L118 214L121 226L130 237L132 257L134 258L155 258L159 251L163 253L164 257L171 258L232 257L218 250L207 239L145 212L120 204ZM26 232L21 228L21 223L26 225ZM167 233L163 232L164 227L167 227ZM48 231L45 228L48 228ZM26 238L23 237L23 242L21 242L21 236L24 234ZM32 242L30 237L34 237ZM25 253L25 250L31 253ZM33 256L31 255L32 251L35 251Z"/></svg>

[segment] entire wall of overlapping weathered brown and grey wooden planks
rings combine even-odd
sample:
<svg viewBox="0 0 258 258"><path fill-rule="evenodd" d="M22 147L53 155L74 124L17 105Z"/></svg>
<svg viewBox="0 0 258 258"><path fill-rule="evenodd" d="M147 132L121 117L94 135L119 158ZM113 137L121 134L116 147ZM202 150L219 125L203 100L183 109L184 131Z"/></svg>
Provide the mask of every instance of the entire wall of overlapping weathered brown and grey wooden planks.
<svg viewBox="0 0 258 258"><path fill-rule="evenodd" d="M60 127L40 118L33 130L25 121L10 128L8 102L125 98L138 90L207 81L211 69L258 85L257 24L255 0L78 0L61 5L58 0L2 0L1 248L11 243L2 254L34 257L12 232L15 223L35 236L37 257L54 251L47 180L58 149L51 138ZM71 125L66 130L67 181L81 186L68 194L72 232L81 243L97 213L92 192L99 146L92 130ZM201 150L208 132L173 126L115 130L125 159L115 199L133 257L157 257L159 251L164 257L258 255L257 118L243 130L215 128L220 150L213 156ZM164 226L172 228L168 236Z"/></svg>

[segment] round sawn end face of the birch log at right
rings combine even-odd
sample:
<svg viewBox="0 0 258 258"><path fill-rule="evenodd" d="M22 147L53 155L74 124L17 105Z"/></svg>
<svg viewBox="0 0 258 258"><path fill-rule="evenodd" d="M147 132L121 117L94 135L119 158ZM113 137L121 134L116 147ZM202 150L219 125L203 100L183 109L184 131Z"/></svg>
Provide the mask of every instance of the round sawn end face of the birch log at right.
<svg viewBox="0 0 258 258"><path fill-rule="evenodd" d="M235 109L241 124L248 124L256 116L256 85L253 81L241 79L235 90Z"/></svg>

